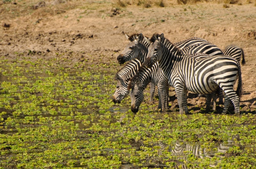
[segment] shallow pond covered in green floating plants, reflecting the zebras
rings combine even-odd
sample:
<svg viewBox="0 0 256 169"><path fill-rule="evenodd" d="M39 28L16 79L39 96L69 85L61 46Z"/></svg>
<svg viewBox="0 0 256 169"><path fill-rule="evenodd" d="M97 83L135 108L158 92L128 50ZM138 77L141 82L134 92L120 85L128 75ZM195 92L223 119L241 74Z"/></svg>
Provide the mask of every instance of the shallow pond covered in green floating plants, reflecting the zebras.
<svg viewBox="0 0 256 169"><path fill-rule="evenodd" d="M129 97L112 102L111 70L2 60L0 71L2 168L255 167L250 112L186 116L154 102L134 114Z"/></svg>

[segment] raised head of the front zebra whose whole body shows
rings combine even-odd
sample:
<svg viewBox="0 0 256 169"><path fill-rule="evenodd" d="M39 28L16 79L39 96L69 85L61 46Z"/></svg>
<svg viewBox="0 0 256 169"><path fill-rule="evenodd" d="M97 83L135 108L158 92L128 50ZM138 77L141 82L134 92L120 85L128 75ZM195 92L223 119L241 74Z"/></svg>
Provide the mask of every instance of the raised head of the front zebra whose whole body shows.
<svg viewBox="0 0 256 169"><path fill-rule="evenodd" d="M164 42L164 34L154 34L151 39L151 43L148 47L148 55L144 65L151 68L153 64L162 59L162 42Z"/></svg>

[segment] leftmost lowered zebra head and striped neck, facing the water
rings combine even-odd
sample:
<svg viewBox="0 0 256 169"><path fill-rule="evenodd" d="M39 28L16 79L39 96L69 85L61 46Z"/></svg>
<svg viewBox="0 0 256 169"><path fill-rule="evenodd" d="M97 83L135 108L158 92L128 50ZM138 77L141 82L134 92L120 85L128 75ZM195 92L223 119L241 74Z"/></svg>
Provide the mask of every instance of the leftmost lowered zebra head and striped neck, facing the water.
<svg viewBox="0 0 256 169"><path fill-rule="evenodd" d="M129 79L137 73L141 66L140 60L134 59L116 73L115 80L117 80L117 85L113 95L114 103L120 103L129 94L129 90L127 89Z"/></svg>

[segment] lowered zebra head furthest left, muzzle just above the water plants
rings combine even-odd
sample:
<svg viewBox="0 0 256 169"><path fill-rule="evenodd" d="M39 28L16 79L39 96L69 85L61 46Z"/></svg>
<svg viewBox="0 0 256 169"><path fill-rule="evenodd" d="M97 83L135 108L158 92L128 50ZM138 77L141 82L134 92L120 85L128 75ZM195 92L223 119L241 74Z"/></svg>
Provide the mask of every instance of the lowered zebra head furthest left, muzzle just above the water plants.
<svg viewBox="0 0 256 169"><path fill-rule="evenodd" d="M129 94L129 90L127 89L128 84L124 82L124 80L116 75L116 91L113 95L113 102L114 103L120 103L126 95Z"/></svg>

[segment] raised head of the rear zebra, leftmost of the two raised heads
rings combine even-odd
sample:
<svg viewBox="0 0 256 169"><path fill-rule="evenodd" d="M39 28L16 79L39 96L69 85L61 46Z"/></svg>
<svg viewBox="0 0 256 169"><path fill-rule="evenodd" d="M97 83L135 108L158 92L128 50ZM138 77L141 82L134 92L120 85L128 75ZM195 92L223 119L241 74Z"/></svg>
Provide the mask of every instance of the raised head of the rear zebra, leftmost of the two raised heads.
<svg viewBox="0 0 256 169"><path fill-rule="evenodd" d="M148 53L148 42L145 41L142 33L133 34L132 36L126 35L126 38L130 43L125 47L124 51L117 56L117 62L124 64L129 60L138 58L140 61L144 61Z"/></svg>

